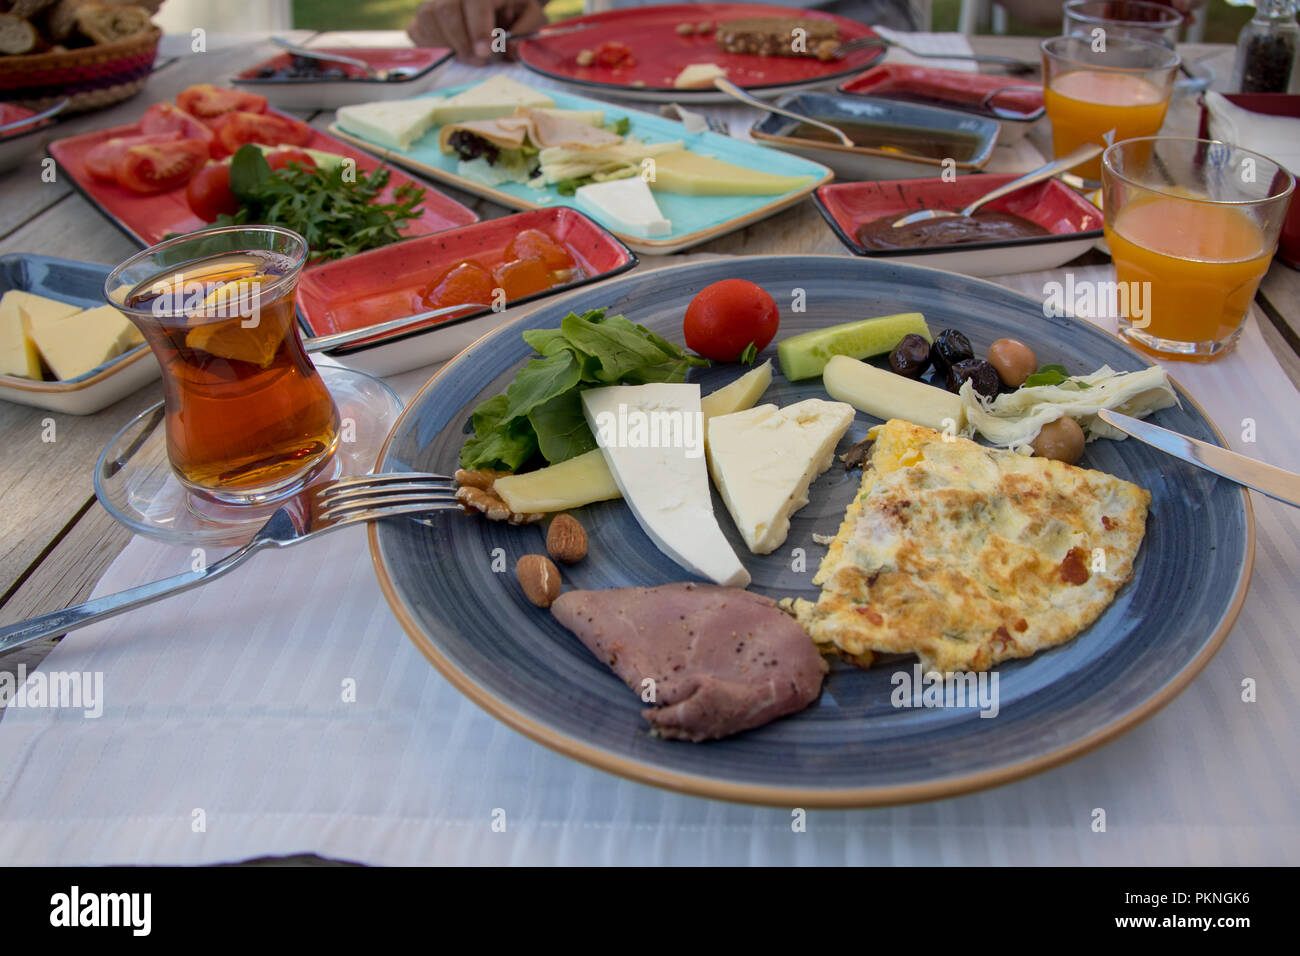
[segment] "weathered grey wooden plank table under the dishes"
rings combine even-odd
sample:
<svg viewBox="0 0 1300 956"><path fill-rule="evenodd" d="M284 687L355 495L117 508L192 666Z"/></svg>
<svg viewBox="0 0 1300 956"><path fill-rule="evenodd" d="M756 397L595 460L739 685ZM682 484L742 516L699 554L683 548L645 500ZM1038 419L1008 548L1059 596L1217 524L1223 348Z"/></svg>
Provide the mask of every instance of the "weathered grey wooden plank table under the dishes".
<svg viewBox="0 0 1300 956"><path fill-rule="evenodd" d="M292 36L302 42L311 34ZM1022 59L1036 57L1036 43L1014 36L972 39L979 52ZM60 124L58 135L133 122L150 103L172 100L191 83L221 83L230 74L265 59L272 49L268 43L240 43L181 57L159 69L135 99ZM1212 65L1219 78L1217 85L1230 74L1232 52L1228 47L1190 44L1183 53L1192 61L1204 60ZM318 113L306 118L324 127L332 116ZM1171 107L1165 129L1191 135L1197 122L1195 101L1183 98ZM1050 146L1044 151L1050 152ZM66 182L44 182L42 159L42 155L32 155L0 181L0 254L36 252L116 264L136 251L133 241ZM486 200L438 189L485 219L508 212ZM811 202L694 251L848 255ZM647 265L664 261L650 259ZM1261 285L1257 302L1270 320L1261 323L1265 337L1300 388L1300 273L1275 263ZM4 502L0 512L0 624L83 601L126 545L130 533L117 525L94 497L91 470L113 433L160 398L161 389L155 384L84 418L0 402L0 449L4 450L0 464L0 501ZM53 442L42 441L47 419L55 421ZM30 671L55 640L10 654L0 659L0 667L14 671L22 663Z"/></svg>

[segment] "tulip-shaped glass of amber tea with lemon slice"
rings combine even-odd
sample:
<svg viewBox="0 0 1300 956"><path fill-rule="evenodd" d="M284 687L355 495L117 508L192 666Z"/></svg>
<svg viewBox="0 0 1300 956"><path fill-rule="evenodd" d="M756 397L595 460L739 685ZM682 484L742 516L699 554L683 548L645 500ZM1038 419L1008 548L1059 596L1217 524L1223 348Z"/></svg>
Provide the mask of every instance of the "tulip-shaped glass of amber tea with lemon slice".
<svg viewBox="0 0 1300 956"><path fill-rule="evenodd" d="M159 271L122 300L162 365L172 467L218 501L295 490L338 441L295 323L300 268L292 250L222 252Z"/></svg>

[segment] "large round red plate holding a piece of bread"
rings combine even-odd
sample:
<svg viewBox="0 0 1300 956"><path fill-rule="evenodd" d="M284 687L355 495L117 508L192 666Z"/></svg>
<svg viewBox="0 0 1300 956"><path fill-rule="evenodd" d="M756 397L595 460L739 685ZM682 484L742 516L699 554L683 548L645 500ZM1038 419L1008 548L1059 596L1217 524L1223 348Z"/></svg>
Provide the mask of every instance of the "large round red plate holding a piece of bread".
<svg viewBox="0 0 1300 956"><path fill-rule="evenodd" d="M801 17L829 20L840 27L840 40L875 36L870 26L844 17L798 7L768 7L767 4L663 4L632 7L606 13L566 20L554 35L532 36L519 44L517 57L530 70L568 83L595 88L625 88L637 86L638 92L690 94L692 90L675 88L672 81L685 66L712 62L727 70L727 78L748 90L822 83L849 77L870 66L881 56L883 48L859 49L842 60L823 62L814 57L751 56L724 53L718 48L714 34L679 36L679 23L718 23L748 17ZM589 25L581 30L575 26ZM604 66L578 66L577 55L594 49L604 42L624 43L632 48L636 66L610 69ZM708 88L708 92L714 92Z"/></svg>

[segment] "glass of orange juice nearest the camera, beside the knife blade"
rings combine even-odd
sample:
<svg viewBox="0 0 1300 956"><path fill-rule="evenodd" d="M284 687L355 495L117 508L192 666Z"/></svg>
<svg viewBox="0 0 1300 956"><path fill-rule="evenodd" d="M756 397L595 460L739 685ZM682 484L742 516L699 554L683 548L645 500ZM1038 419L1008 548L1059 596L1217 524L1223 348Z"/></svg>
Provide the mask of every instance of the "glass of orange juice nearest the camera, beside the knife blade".
<svg viewBox="0 0 1300 956"><path fill-rule="evenodd" d="M1222 355L1273 260L1295 177L1212 139L1130 139L1101 161L1106 242L1130 303L1121 334L1166 359Z"/></svg>

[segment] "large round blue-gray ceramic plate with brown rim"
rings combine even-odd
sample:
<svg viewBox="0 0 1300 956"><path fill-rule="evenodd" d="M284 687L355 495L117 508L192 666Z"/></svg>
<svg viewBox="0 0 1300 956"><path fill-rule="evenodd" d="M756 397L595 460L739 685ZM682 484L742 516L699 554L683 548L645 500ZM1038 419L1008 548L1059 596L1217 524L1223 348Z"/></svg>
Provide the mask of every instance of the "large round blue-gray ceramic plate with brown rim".
<svg viewBox="0 0 1300 956"><path fill-rule="evenodd" d="M963 330L978 354L1014 336L1043 363L1071 372L1145 362L1126 345L991 282L913 265L842 256L755 256L689 263L625 276L540 306L462 352L410 403L381 454L378 471L450 473L471 408L499 392L528 358L524 328L555 328L569 310L608 306L681 341L692 297L720 278L749 278L781 303L781 336L871 315L919 311L932 330ZM802 290L806 311L792 312ZM774 354L775 349L768 349ZM763 358L767 355L764 354ZM703 369L707 392L738 373ZM819 378L777 375L764 402L824 397ZM1222 444L1205 415L1182 407L1153 420ZM874 419L858 415L841 451ZM1087 631L1063 646L998 669L998 713L901 709L890 704L894 672L835 663L807 710L707 744L651 737L645 706L549 611L530 605L515 561L545 551L541 525L511 527L443 515L372 525L384 591L420 650L458 688L511 727L562 753L645 783L702 796L781 806L868 806L944 796L1005 783L1076 757L1167 704L1213 657L1240 610L1251 576L1253 519L1238 486L1136 441L1097 441L1084 466L1152 493L1147 537L1134 579ZM719 523L744 555L753 588L772 597L816 597L810 579L824 549L812 535L835 533L858 486L857 472L831 466L775 553L749 554L725 509ZM564 568L566 587L655 585L688 579L663 557L621 501L580 509L590 551ZM502 551L495 551L502 549ZM796 549L801 549L801 553ZM493 571L494 551L507 571ZM502 554L503 553L503 554Z"/></svg>

